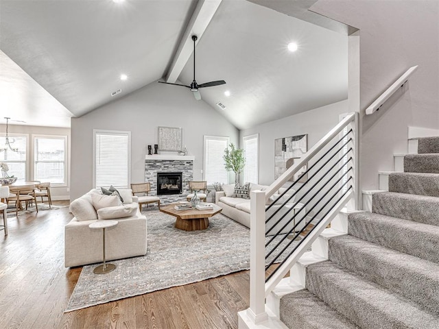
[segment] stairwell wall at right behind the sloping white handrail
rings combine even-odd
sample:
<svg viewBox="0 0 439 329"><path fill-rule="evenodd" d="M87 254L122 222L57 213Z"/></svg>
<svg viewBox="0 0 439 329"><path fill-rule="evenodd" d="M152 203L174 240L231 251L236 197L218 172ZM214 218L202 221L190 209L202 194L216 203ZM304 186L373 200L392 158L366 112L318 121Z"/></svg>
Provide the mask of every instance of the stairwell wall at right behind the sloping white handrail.
<svg viewBox="0 0 439 329"><path fill-rule="evenodd" d="M361 188L378 187L407 127L439 127L439 1L319 0L311 10L359 29ZM365 109L410 66L408 84L370 116Z"/></svg>

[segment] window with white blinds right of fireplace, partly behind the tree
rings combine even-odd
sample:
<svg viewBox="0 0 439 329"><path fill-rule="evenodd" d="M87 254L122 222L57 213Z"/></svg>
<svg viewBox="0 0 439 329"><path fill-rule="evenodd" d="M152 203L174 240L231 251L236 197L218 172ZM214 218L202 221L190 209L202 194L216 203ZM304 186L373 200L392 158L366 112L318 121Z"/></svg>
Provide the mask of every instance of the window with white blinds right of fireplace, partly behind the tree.
<svg viewBox="0 0 439 329"><path fill-rule="evenodd" d="M228 184L223 156L229 141L228 137L204 136L204 180L208 185L215 182Z"/></svg>

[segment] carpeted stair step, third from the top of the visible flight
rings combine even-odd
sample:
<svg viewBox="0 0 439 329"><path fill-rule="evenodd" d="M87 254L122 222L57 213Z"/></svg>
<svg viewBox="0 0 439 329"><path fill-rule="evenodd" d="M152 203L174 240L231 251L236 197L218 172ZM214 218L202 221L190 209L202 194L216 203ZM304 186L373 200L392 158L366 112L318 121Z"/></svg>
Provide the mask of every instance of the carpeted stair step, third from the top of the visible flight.
<svg viewBox="0 0 439 329"><path fill-rule="evenodd" d="M388 184L390 192L439 197L439 175L391 173Z"/></svg>

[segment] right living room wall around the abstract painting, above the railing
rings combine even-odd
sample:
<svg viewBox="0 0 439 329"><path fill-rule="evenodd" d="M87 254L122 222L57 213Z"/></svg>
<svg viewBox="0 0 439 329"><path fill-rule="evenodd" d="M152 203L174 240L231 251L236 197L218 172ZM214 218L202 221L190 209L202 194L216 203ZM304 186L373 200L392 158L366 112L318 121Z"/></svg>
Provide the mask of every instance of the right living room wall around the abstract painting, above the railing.
<svg viewBox="0 0 439 329"><path fill-rule="evenodd" d="M345 112L348 112L347 100L241 130L241 146L244 136L259 134L259 184L270 185L274 182L276 138L308 134L308 149L310 149L337 125L340 121L339 114Z"/></svg>

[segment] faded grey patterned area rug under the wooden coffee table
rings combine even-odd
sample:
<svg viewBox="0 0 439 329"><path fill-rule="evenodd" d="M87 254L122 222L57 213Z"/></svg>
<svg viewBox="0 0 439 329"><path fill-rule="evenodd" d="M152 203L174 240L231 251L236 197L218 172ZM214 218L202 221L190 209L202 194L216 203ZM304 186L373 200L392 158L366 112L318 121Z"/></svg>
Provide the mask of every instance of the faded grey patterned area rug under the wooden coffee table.
<svg viewBox="0 0 439 329"><path fill-rule="evenodd" d="M162 212L147 219L147 254L112 260L116 269L103 275L84 266L65 312L250 268L250 230L224 215L194 232L174 228L175 218Z"/></svg>

